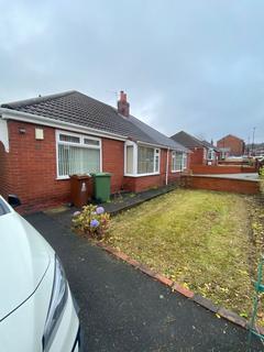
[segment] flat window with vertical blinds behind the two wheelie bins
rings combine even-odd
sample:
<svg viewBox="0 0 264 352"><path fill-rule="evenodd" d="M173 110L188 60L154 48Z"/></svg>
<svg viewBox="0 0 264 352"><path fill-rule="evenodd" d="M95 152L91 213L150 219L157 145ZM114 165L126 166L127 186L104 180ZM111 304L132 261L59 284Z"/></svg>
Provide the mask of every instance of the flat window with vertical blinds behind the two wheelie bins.
<svg viewBox="0 0 264 352"><path fill-rule="evenodd" d="M56 133L58 178L100 172L100 139L68 132Z"/></svg>

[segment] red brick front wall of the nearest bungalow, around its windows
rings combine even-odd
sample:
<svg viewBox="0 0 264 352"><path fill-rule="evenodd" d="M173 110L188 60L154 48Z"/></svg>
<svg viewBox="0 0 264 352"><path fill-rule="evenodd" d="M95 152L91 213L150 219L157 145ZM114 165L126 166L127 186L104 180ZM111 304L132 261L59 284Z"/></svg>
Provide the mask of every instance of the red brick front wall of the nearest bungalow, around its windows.
<svg viewBox="0 0 264 352"><path fill-rule="evenodd" d="M55 129L41 127L44 140L35 140L35 125L32 123L9 121L10 152L0 145L0 193L7 197L15 194L22 204L44 205L70 200L68 179L56 179L56 140ZM23 129L25 133L20 133ZM161 152L161 175L144 177L124 177L124 144L122 141L102 140L102 170L111 176L111 193L122 189L141 191L166 182L167 151ZM168 183L176 180L179 173L172 173L172 153L168 157Z"/></svg>

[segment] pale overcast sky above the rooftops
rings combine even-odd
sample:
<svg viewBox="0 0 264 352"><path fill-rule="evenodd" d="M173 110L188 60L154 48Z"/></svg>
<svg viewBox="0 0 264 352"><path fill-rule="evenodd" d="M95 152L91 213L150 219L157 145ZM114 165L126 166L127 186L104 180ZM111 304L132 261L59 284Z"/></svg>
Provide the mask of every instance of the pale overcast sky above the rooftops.
<svg viewBox="0 0 264 352"><path fill-rule="evenodd" d="M264 141L264 1L0 0L0 102L76 89L172 135Z"/></svg>

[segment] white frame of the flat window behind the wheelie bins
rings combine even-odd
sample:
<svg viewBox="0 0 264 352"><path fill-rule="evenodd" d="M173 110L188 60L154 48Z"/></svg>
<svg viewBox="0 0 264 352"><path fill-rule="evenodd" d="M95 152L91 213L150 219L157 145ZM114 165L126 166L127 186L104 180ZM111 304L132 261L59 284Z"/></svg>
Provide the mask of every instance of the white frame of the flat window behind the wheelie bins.
<svg viewBox="0 0 264 352"><path fill-rule="evenodd" d="M59 135L65 134L69 136L76 136L80 139L80 143L75 143L75 142L66 142L66 141L59 141ZM85 144L85 139L89 139L92 141L98 141L98 145L89 145ZM102 172L102 147L101 147L101 139L91 136L89 134L79 134L79 133L74 133L69 131L64 131L64 130L56 130L56 172L57 172L57 177L56 179L69 179L69 175L65 176L59 176L58 174L58 144L63 145L75 145L75 146L80 146L80 147L86 147L86 148L95 148L100 151L100 172Z"/></svg>

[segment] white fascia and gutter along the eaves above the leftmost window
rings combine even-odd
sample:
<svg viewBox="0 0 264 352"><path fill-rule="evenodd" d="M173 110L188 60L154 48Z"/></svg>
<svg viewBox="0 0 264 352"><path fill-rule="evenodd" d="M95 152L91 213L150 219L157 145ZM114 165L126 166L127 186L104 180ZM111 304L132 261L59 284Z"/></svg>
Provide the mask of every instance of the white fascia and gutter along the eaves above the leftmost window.
<svg viewBox="0 0 264 352"><path fill-rule="evenodd" d="M42 116L36 116L36 114L23 112L23 111L10 110L7 108L0 108L0 113L1 113L3 120L10 119L10 120L15 120L15 121L36 123L36 124L52 127L55 129L63 129L63 130L67 130L67 131L74 131L74 132L97 135L97 136L102 136L102 138L105 136L107 139L117 140L117 141L125 141L128 139L127 136L123 136L120 134L103 132L101 130L86 128L86 127L81 127L79 124L65 122L65 121L61 121L61 120L44 118Z"/></svg>

